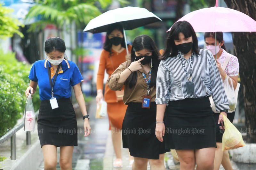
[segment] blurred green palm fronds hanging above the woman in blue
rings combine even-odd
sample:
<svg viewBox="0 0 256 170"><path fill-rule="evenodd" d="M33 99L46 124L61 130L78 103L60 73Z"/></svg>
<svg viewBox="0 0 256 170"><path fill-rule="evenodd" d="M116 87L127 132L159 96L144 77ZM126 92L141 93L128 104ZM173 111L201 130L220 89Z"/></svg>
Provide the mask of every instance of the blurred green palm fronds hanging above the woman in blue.
<svg viewBox="0 0 256 170"><path fill-rule="evenodd" d="M126 0L118 0L121 4L129 3ZM54 24L62 28L64 24L70 24L72 21L79 28L85 26L91 19L101 14L96 3L105 9L112 0L37 0L37 5L33 6L28 14L27 19L40 16L42 19L30 27L29 31L36 28L43 28L46 24Z"/></svg>

